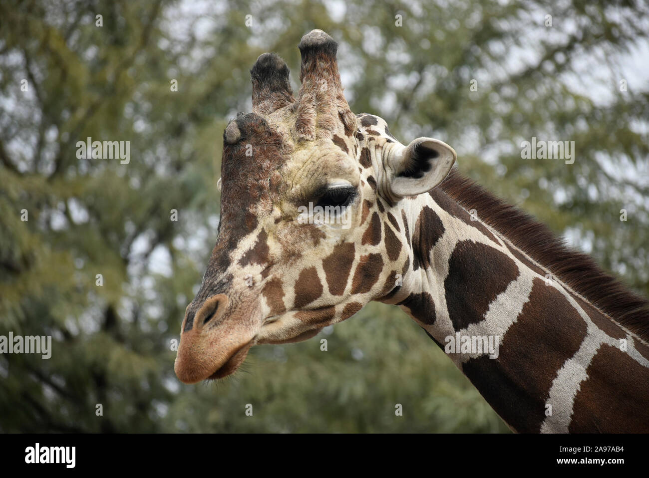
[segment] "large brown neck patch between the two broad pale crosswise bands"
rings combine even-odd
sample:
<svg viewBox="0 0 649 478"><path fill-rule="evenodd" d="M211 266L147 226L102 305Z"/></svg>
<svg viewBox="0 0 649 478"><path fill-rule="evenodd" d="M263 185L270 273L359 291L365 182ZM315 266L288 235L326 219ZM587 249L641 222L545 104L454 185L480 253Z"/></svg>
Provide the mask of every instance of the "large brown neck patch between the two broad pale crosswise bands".
<svg viewBox="0 0 649 478"><path fill-rule="evenodd" d="M530 300L500 337L498 358L469 359L462 371L516 431L539 433L552 381L586 333L585 322L567 298L535 278Z"/></svg>

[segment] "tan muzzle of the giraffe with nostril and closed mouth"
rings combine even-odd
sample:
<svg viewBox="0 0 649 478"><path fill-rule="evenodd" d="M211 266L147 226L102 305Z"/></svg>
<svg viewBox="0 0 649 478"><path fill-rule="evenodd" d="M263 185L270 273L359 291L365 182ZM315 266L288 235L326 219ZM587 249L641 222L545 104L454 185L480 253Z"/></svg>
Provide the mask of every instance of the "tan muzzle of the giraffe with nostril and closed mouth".
<svg viewBox="0 0 649 478"><path fill-rule="evenodd" d="M180 381L225 377L243 362L256 330L251 320L238 320L231 309L225 294L208 298L193 317L188 307L174 365Z"/></svg>

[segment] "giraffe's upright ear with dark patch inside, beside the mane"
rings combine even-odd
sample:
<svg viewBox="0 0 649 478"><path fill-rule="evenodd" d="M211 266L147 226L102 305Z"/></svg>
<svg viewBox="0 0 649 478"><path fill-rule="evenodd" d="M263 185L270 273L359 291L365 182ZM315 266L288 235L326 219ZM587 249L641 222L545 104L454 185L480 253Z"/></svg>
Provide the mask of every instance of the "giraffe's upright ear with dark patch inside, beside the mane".
<svg viewBox="0 0 649 478"><path fill-rule="evenodd" d="M390 199L427 193L442 182L457 158L452 147L432 137L418 137L408 146L395 144L386 164Z"/></svg>

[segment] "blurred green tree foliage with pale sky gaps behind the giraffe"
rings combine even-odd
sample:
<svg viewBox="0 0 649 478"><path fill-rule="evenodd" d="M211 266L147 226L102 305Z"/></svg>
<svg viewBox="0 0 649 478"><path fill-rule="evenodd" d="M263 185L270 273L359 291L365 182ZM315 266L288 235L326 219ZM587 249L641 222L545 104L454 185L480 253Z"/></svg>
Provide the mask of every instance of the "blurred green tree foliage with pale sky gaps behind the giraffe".
<svg viewBox="0 0 649 478"><path fill-rule="evenodd" d="M647 295L649 85L628 73L647 10L3 1L0 335L52 335L53 353L0 356L0 431L508 431L380 304L316 339L255 348L222 383L180 385L172 341L216 236L221 133L251 108L260 53L281 54L296 80L300 37L326 30L354 112L404 143L447 141L462 171ZM88 137L130 141L129 163L78 158ZM574 164L521 159L532 137L575 141Z"/></svg>

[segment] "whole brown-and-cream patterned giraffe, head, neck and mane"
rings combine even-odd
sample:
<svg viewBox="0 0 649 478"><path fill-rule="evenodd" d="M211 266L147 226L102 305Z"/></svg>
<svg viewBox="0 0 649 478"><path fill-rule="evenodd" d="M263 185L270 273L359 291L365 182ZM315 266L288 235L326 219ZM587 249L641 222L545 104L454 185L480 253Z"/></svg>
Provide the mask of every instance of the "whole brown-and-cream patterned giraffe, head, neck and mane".
<svg viewBox="0 0 649 478"><path fill-rule="evenodd" d="M331 36L298 46L297 98L284 60L262 54L252 112L223 133L218 237L178 379L228 376L252 346L310 339L376 300L402 307L515 432L648 432L646 300L462 176L447 144L404 145L354 115ZM306 204L344 209L349 227L301 221Z"/></svg>

